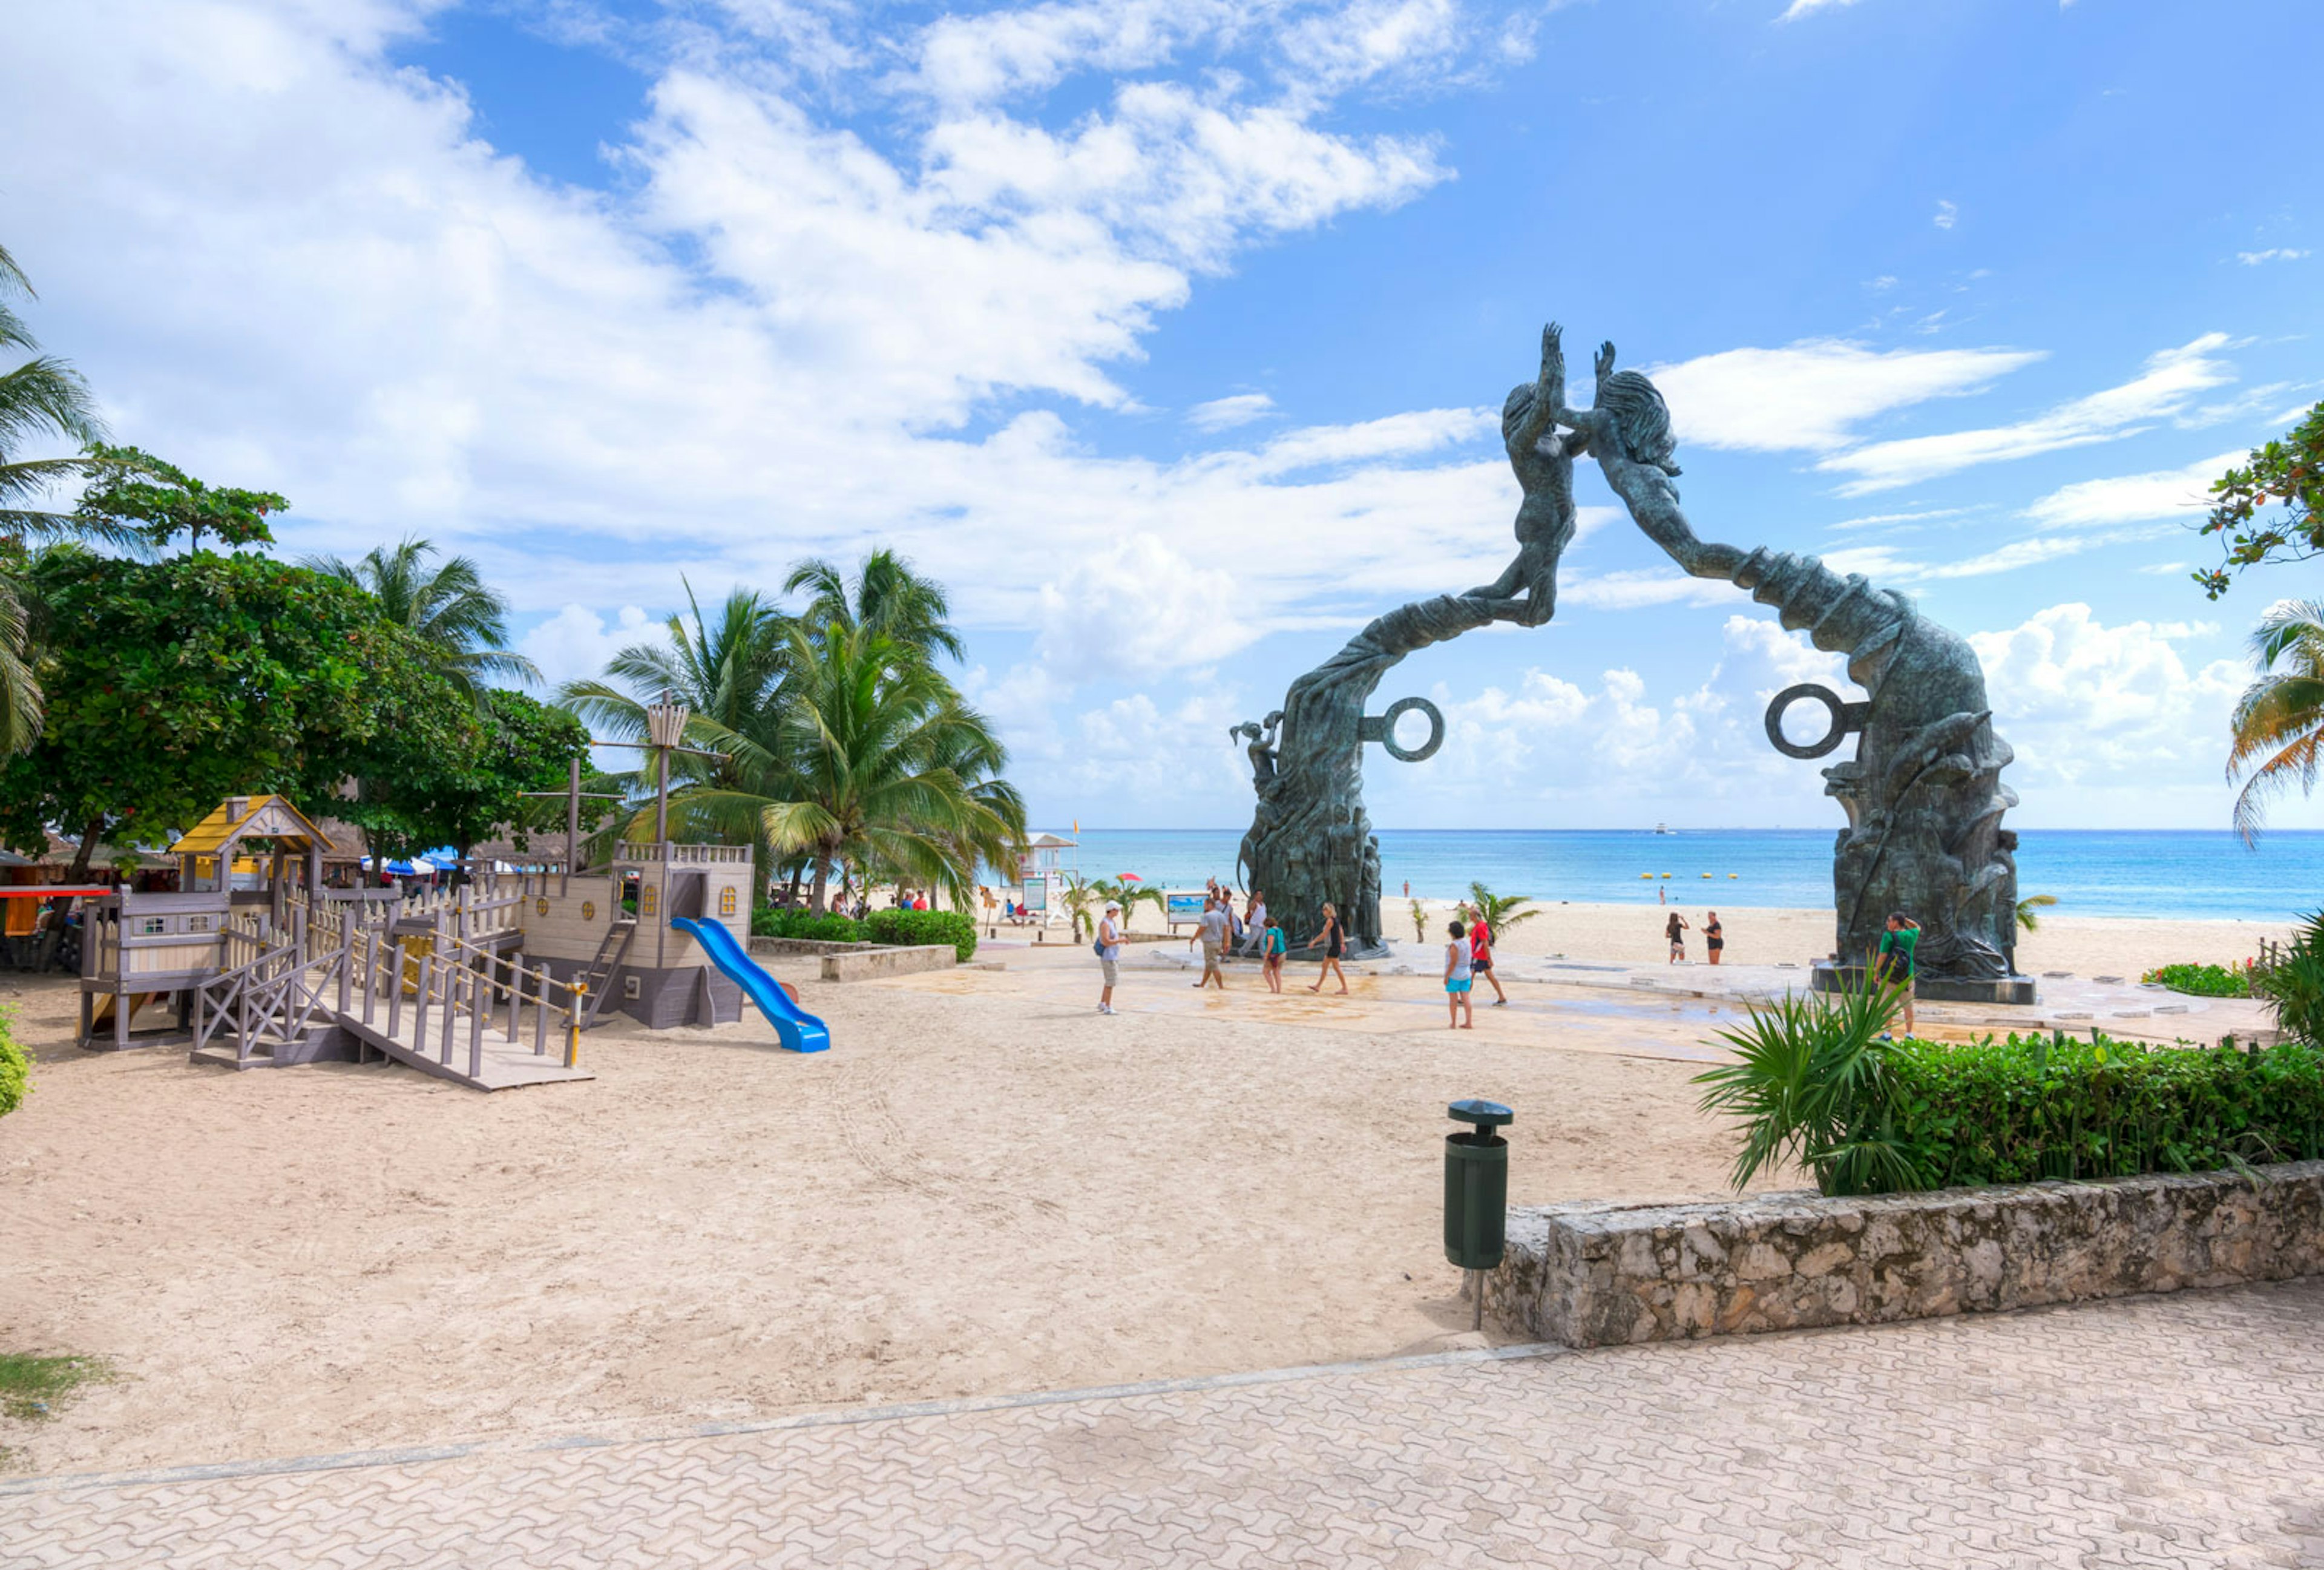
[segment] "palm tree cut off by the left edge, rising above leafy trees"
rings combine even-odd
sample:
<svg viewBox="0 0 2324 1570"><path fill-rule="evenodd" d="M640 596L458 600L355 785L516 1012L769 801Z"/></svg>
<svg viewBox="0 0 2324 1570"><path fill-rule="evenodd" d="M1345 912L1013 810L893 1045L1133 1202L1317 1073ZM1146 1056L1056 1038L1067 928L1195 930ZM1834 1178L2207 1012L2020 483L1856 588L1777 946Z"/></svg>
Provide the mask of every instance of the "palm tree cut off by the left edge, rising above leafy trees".
<svg viewBox="0 0 2324 1570"><path fill-rule="evenodd" d="M0 374L0 757L23 752L40 739L42 694L33 674L35 653L28 646L23 583L14 560L23 543L81 539L123 548L142 541L125 527L102 518L53 513L37 502L56 485L84 478L86 458L21 458L28 444L67 441L95 446L105 437L95 402L81 374L40 353L33 330L9 307L33 283L16 258L0 249L0 355L28 355L16 369Z"/></svg>

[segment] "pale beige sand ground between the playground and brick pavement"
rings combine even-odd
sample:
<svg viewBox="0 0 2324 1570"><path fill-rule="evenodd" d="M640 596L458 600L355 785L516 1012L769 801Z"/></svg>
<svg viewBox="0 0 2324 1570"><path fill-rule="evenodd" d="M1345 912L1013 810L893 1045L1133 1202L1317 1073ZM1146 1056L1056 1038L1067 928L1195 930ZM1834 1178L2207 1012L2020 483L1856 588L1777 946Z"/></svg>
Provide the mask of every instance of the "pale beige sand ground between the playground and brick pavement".
<svg viewBox="0 0 2324 1570"><path fill-rule="evenodd" d="M1759 964L1829 945L1822 913L1727 927ZM2027 964L2259 931L2054 917ZM1731 1006L1543 985L1450 1034L1429 975L1197 994L1171 948L1134 950L1111 1020L1074 945L860 985L779 962L832 1052L755 1015L621 1022L586 1038L595 1080L495 1096L84 1054L70 980L19 980L40 1061L0 1122L0 1347L121 1380L0 1445L128 1468L1466 1345L1439 1247L1459 1096L1520 1110L1513 1203L1724 1182L1687 1080ZM1550 906L1504 952L1659 962L1659 913Z"/></svg>

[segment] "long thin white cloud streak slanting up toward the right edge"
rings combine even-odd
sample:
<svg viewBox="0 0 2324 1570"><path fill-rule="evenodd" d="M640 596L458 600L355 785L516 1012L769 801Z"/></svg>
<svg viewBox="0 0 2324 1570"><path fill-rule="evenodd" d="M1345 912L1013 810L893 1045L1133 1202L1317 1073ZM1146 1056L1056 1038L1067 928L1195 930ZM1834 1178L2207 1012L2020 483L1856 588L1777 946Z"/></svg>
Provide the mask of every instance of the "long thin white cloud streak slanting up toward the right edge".
<svg viewBox="0 0 2324 1570"><path fill-rule="evenodd" d="M2192 344L2150 355L2136 379L2059 404L2031 420L1941 437L1875 441L1845 453L1831 453L1817 460L1815 467L1855 476L1841 485L1841 495L1855 497L1913 485L1975 464L2131 437L2152 420L2185 411L2196 392L2233 381L2233 369L2215 358L2219 348L2226 348L2226 334L2208 332Z"/></svg>

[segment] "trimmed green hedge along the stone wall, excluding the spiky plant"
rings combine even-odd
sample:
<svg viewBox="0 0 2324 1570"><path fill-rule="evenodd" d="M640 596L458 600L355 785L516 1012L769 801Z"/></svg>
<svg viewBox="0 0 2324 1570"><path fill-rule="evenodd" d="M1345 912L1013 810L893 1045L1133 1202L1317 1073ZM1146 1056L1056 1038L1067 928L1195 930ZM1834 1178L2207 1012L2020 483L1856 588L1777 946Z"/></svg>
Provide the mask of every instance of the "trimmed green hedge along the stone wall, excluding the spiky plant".
<svg viewBox="0 0 2324 1570"><path fill-rule="evenodd" d="M1882 1045L1859 1138L1924 1187L2203 1173L2324 1154L2324 1050L2150 1047L2059 1034Z"/></svg>

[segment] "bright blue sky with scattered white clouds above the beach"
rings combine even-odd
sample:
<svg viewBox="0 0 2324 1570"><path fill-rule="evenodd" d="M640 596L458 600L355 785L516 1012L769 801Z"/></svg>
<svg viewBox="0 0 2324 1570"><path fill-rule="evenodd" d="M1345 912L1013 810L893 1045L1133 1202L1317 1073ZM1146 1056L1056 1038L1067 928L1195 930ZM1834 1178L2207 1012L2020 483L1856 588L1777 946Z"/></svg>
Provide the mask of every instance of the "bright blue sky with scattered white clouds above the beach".
<svg viewBox="0 0 2324 1570"><path fill-rule="evenodd" d="M1225 727L1490 578L1545 318L1652 367L1701 534L1973 636L2027 827L2217 827L2208 474L2324 397L2315 5L88 0L12 21L35 325L290 548L479 555L593 671L895 543L1046 822L1248 815ZM56 132L72 123L72 137ZM1838 680L1583 476L1559 615L1413 657L1394 827L1836 824ZM2287 827L2324 824L2289 801Z"/></svg>

